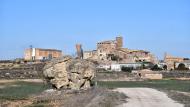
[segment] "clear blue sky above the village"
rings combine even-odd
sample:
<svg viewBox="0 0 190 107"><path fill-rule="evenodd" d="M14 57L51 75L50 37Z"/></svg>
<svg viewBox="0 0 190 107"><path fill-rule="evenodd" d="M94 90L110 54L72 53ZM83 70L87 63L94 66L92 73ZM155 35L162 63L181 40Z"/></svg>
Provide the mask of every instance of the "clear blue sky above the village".
<svg viewBox="0 0 190 107"><path fill-rule="evenodd" d="M123 36L124 47L190 58L190 0L0 0L0 59L24 49L75 54Z"/></svg>

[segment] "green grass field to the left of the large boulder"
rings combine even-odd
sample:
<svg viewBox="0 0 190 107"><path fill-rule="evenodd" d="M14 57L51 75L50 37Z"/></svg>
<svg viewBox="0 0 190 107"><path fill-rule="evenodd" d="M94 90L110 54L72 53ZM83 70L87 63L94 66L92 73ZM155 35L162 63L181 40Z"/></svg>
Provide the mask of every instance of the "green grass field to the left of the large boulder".
<svg viewBox="0 0 190 107"><path fill-rule="evenodd" d="M15 81L0 83L0 100L25 100L29 95L41 93L47 89L43 83Z"/></svg>

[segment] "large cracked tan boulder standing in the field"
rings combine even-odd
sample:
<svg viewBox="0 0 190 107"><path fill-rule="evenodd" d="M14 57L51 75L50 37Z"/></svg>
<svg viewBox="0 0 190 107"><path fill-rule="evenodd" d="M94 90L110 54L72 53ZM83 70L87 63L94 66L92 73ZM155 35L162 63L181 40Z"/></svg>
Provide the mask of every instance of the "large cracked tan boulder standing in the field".
<svg viewBox="0 0 190 107"><path fill-rule="evenodd" d="M87 89L95 76L95 64L88 60L65 56L47 63L43 69L45 78L57 89Z"/></svg>

